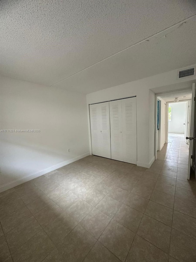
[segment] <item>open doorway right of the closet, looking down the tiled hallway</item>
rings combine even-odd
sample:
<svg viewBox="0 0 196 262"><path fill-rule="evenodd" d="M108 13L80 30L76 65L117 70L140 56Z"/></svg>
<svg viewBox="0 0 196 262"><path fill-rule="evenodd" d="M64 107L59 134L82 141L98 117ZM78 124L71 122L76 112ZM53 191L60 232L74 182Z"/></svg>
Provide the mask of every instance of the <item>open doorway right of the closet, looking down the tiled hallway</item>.
<svg viewBox="0 0 196 262"><path fill-rule="evenodd" d="M193 100L191 100L192 97ZM155 130L155 159L164 161L166 166L172 165L173 169L176 169L175 171L177 172L177 177L182 176L183 179L185 179L185 177L190 179L190 167L193 167L193 161L190 161L190 158L192 157L192 151L194 150L192 147L194 143L192 142L195 142L194 139L196 139L193 137L191 128L191 126L193 126L194 117L194 97L195 88L193 84L192 90L187 89L162 93L159 95L157 94L155 100L155 125L157 123L157 129ZM164 109L158 108L158 104L160 103L158 103L158 101L161 101L162 104L166 104L164 119L165 122L163 121ZM193 112L192 114L191 109ZM160 115L158 115L159 110ZM161 117L162 121L160 120ZM163 122L165 125L163 125ZM162 134L160 139L159 134L160 136ZM162 141L165 141L165 143L164 145L162 143L162 145L159 146L159 140L161 141L161 139Z"/></svg>

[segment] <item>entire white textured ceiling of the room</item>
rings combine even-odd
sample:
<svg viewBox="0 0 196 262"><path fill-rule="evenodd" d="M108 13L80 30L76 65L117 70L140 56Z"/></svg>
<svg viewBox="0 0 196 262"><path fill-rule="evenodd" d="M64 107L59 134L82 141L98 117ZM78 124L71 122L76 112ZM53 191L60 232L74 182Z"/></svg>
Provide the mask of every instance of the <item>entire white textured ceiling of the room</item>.
<svg viewBox="0 0 196 262"><path fill-rule="evenodd" d="M89 93L192 65L195 14L195 0L1 0L0 74Z"/></svg>

